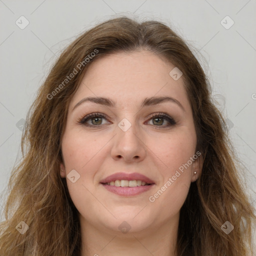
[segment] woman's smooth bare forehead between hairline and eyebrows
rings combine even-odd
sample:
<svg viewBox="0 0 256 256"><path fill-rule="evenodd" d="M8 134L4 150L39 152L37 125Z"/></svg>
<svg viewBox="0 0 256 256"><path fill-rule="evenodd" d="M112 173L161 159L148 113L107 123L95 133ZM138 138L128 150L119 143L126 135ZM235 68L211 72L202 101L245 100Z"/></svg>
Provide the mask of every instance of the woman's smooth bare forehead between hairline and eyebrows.
<svg viewBox="0 0 256 256"><path fill-rule="evenodd" d="M174 80L169 75L174 67L146 50L99 57L88 66L70 104L74 105L84 96L107 96L117 102L126 99L126 103L134 103L145 97L166 95L186 104L188 98L182 76Z"/></svg>

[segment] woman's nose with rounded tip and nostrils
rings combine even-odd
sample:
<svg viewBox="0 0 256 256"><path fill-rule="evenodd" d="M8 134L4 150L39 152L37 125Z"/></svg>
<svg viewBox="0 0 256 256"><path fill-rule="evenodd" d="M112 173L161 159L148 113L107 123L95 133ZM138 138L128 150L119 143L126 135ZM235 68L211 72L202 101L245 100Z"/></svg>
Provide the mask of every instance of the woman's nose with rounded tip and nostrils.
<svg viewBox="0 0 256 256"><path fill-rule="evenodd" d="M143 160L146 155L146 145L139 128L133 122L127 130L124 130L116 126L117 134L113 138L114 144L111 148L112 158L123 159L125 162Z"/></svg>

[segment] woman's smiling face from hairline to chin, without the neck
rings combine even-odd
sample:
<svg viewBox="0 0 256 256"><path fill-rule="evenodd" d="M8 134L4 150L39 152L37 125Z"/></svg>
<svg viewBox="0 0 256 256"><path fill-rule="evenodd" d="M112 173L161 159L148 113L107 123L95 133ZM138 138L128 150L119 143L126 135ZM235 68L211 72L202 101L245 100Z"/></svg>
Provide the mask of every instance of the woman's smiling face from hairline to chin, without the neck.
<svg viewBox="0 0 256 256"><path fill-rule="evenodd" d="M177 223L200 153L174 67L144 50L89 65L61 141L60 175L82 223L122 232Z"/></svg>

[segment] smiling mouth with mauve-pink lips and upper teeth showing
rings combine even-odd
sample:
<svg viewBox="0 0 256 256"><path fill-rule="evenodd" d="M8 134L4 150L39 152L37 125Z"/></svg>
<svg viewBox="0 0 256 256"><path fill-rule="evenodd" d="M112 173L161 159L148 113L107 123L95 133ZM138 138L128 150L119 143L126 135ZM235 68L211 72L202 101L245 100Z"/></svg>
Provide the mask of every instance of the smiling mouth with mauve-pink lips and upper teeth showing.
<svg viewBox="0 0 256 256"><path fill-rule="evenodd" d="M140 173L117 172L100 181L105 189L118 195L131 196L148 191L154 181Z"/></svg>

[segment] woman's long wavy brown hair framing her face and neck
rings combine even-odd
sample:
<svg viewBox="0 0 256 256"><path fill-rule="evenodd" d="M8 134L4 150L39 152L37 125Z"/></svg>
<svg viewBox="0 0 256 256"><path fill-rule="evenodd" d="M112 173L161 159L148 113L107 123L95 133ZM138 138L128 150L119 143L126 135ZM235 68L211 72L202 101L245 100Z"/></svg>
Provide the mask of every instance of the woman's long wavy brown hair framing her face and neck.
<svg viewBox="0 0 256 256"><path fill-rule="evenodd" d="M78 212L66 180L59 175L67 107L92 61L112 52L140 49L154 52L182 71L195 123L196 150L203 158L202 173L191 183L180 209L177 255L252 254L255 212L244 192L241 166L225 121L210 97L209 81L201 65L169 26L122 16L102 22L75 39L39 88L22 134L23 157L9 180L6 220L0 225L1 255L78 255ZM25 226L20 221L28 225L23 234L18 232ZM234 227L228 234L221 229L226 221Z"/></svg>

